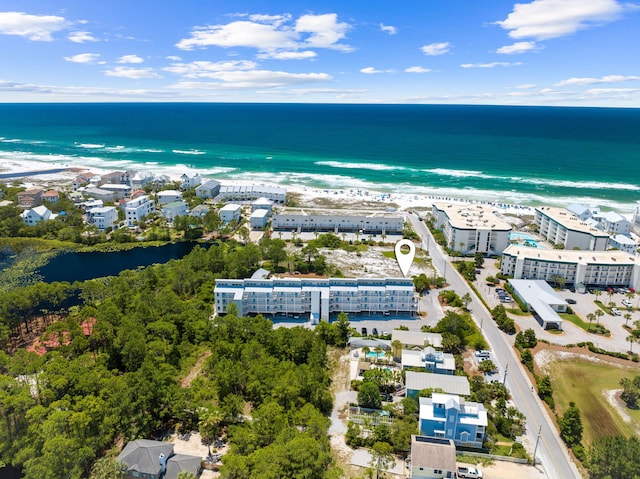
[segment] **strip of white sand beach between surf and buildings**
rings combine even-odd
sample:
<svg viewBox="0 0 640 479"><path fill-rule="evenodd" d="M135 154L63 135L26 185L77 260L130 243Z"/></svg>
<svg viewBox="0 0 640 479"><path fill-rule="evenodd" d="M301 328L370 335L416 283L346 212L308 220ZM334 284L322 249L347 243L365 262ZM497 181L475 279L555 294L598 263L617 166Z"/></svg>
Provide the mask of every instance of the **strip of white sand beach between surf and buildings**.
<svg viewBox="0 0 640 479"><path fill-rule="evenodd" d="M174 165L167 168L158 168L159 165L134 165L133 169L138 171L151 171L154 174L165 174L172 181L179 181L180 176L183 173L194 174L200 172L197 168L190 168L184 165ZM184 166L181 168L181 166ZM154 169L155 168L155 169ZM65 188L70 187L71 182L78 176L79 173L83 171L90 171L92 173L106 174L111 171L117 170L117 167L114 169L106 169L101 167L95 167L91 165L83 165L83 164L63 164L57 162L43 162L37 160L7 160L0 159L0 181L4 183L19 183L26 187L31 186L49 186L49 187L59 187ZM258 174L253 174L252 176L258 177ZM270 176L270 175L265 175ZM515 215L533 215L534 208L538 206L568 206L566 203L562 203L555 198L550 198L548 202L523 202L521 204L511 203L511 202L502 202L492 199L477 199L471 197L471 195L450 195L450 194L421 194L418 192L415 193L397 193L397 192L387 192L383 190L376 190L373 188L364 188L364 187L337 187L337 188L324 188L319 186L305 185L300 183L274 183L270 182L267 179L259 181L257 179L251 180L233 180L225 177L224 174L218 176L212 176L223 184L226 185L241 185L241 184L251 184L251 185L273 185L280 186L287 190L287 192L294 193L300 195L306 199L306 201L313 201L314 198L328 198L336 201L348 201L350 204L353 204L354 201L362 200L367 203L379 203L382 206L386 205L397 205L397 210L406 211L412 208L418 209L430 209L434 202L438 201L446 201L446 202L455 202L460 204L485 204L496 207L500 212L510 213ZM210 176L203 176L203 179L209 179ZM398 185L398 188L402 188L403 185ZM434 191L437 191L438 188L432 188ZM464 190L460 190L460 192L464 192ZM586 206L599 206L597 203L594 204L594 199L590 202L583 202ZM636 204L626 204L627 208L609 208L605 207L604 209L612 209L614 211L618 211L625 217L631 217L633 215L634 208L640 202L636 202ZM353 205L356 207L357 205Z"/></svg>

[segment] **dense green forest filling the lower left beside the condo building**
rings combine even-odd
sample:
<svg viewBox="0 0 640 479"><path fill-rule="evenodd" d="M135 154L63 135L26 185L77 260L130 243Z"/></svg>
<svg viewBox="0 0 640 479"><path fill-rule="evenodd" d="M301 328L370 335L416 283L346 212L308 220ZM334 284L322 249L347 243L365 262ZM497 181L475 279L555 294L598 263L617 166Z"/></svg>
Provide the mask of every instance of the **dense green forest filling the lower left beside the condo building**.
<svg viewBox="0 0 640 479"><path fill-rule="evenodd" d="M216 411L232 444L223 477L272 477L274 465L282 477L333 477L327 342L344 344L345 333L274 329L233 310L210 319L215 278L248 276L277 254L274 241L196 247L117 277L1 293L5 351L52 315L43 337L61 346L0 352L0 457L27 479L88 477L117 444L198 429ZM180 387L207 350L204 374Z"/></svg>

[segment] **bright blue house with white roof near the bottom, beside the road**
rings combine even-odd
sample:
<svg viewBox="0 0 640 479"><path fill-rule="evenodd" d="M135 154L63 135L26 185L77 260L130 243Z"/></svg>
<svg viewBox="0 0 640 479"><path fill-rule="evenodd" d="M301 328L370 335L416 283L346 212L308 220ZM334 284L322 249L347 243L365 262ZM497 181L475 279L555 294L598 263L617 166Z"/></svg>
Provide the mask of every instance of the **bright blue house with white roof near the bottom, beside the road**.
<svg viewBox="0 0 640 479"><path fill-rule="evenodd" d="M484 405L455 394L433 393L420 398L420 434L451 439L456 446L482 447L487 428Z"/></svg>

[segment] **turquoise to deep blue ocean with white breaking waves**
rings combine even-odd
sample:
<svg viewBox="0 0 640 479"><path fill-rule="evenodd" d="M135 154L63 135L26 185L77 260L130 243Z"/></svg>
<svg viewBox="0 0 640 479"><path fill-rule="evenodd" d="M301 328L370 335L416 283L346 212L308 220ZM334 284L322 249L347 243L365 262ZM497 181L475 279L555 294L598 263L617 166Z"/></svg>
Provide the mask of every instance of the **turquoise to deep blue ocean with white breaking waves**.
<svg viewBox="0 0 640 479"><path fill-rule="evenodd" d="M3 158L628 213L640 109L1 104Z"/></svg>

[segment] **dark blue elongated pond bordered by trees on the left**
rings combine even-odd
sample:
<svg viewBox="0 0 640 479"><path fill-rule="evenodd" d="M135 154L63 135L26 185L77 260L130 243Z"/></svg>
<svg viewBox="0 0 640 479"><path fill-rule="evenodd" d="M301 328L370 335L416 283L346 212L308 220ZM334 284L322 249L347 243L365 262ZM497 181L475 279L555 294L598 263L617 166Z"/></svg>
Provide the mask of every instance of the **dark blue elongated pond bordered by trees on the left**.
<svg viewBox="0 0 640 479"><path fill-rule="evenodd" d="M196 242L171 243L113 253L66 253L56 256L38 270L38 273L47 283L54 281L73 283L103 276L117 276L125 269L136 269L139 266L180 259L198 244Z"/></svg>

